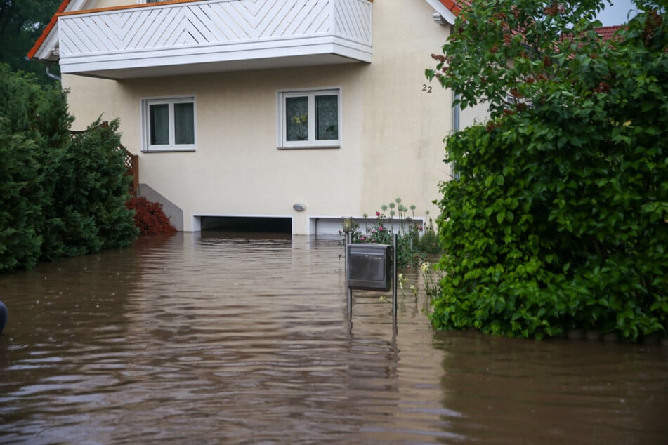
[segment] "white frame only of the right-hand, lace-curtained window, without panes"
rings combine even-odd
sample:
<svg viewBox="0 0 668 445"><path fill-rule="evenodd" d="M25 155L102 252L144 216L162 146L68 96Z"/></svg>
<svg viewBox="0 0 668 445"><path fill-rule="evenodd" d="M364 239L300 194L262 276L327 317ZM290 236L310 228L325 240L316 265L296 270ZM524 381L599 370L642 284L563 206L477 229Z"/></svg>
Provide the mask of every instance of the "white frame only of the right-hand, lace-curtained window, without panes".
<svg viewBox="0 0 668 445"><path fill-rule="evenodd" d="M315 140L315 96L317 95L336 95L338 116L337 126L339 139L336 140ZM286 98L303 97L308 98L308 140L286 140L287 137L287 117L286 117ZM276 92L276 128L277 139L276 146L278 149L294 149L294 148L340 148L343 127L341 125L343 116L341 108L341 87L327 87L327 88L303 88L294 90L280 90Z"/></svg>

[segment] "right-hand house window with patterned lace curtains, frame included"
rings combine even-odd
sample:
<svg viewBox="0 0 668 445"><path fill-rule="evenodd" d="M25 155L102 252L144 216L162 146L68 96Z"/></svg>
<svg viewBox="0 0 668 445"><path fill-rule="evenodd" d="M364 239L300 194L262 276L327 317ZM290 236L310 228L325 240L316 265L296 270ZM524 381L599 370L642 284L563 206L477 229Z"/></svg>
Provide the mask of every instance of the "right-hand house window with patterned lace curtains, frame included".
<svg viewBox="0 0 668 445"><path fill-rule="evenodd" d="M341 90L279 91L278 147L341 146Z"/></svg>

